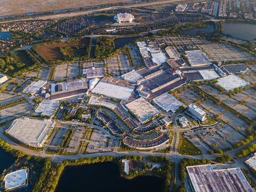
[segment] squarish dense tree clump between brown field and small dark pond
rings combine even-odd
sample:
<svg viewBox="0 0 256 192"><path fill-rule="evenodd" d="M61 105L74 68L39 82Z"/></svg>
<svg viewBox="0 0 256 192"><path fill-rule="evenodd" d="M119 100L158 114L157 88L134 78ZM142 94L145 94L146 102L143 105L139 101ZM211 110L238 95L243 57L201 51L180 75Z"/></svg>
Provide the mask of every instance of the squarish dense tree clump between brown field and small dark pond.
<svg viewBox="0 0 256 192"><path fill-rule="evenodd" d="M105 36L97 37L94 49L94 57L96 59L110 57L114 51L114 38Z"/></svg>

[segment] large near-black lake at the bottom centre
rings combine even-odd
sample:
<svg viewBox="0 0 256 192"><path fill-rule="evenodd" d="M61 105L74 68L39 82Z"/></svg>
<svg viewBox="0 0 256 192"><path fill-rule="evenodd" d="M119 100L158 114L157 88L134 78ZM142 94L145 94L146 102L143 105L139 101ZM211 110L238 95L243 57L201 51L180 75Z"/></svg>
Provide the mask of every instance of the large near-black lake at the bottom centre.
<svg viewBox="0 0 256 192"><path fill-rule="evenodd" d="M117 163L97 163L65 167L55 192L161 192L163 178L121 177Z"/></svg>

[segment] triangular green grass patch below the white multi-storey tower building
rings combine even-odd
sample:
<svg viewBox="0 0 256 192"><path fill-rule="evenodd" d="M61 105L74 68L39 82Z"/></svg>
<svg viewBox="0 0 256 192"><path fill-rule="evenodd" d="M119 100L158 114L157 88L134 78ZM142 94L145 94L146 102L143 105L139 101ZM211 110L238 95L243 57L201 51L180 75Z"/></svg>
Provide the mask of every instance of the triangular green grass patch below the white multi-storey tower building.
<svg viewBox="0 0 256 192"><path fill-rule="evenodd" d="M202 151L197 149L187 138L183 137L184 132L180 132L180 142L178 152L181 155L202 155Z"/></svg>

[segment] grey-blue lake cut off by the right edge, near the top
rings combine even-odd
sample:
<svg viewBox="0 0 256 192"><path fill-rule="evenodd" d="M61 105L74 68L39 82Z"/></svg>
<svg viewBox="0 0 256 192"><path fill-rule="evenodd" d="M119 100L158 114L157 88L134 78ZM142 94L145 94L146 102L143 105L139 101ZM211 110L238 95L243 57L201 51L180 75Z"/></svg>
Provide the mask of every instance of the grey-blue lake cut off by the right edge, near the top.
<svg viewBox="0 0 256 192"><path fill-rule="evenodd" d="M256 38L256 24L224 22L222 32L223 34L232 35L236 38L252 40Z"/></svg>

